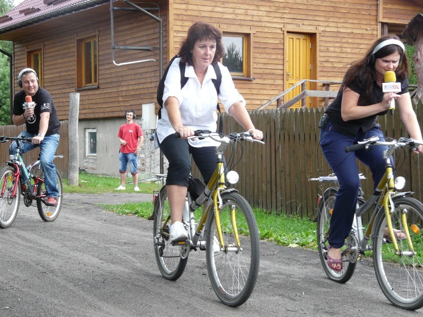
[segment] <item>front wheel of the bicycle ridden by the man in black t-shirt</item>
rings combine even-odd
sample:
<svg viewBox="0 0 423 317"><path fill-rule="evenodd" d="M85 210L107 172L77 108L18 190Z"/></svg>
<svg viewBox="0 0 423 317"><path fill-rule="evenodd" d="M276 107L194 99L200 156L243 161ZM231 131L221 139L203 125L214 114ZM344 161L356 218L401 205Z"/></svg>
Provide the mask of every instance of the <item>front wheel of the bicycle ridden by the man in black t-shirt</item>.
<svg viewBox="0 0 423 317"><path fill-rule="evenodd" d="M5 166L1 169L0 175L0 228L9 228L16 219L19 209L20 186L16 187L16 194L12 197L13 185L19 184L15 168Z"/></svg>

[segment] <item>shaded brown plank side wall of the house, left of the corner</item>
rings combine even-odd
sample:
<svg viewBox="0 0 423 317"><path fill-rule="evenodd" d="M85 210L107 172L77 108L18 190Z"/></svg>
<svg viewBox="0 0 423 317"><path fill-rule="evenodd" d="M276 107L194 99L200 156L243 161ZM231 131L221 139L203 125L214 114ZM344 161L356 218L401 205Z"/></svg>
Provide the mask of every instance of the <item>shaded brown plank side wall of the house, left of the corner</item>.
<svg viewBox="0 0 423 317"><path fill-rule="evenodd" d="M110 12L110 4L105 5ZM154 12L157 14L157 11ZM165 7L160 14L165 15ZM92 13L86 23L75 23L37 36L18 40L14 44L15 77L26 67L26 51L43 49L44 88L53 96L60 120L68 119L69 94L76 88L76 40L98 34L98 86L78 90L79 119L123 116L126 109L136 109L151 103L159 73L159 51L116 50L115 62L124 63L145 59L156 62L116 66L112 63L110 13ZM164 28L166 19L164 19ZM114 38L118 46L158 47L159 24L136 11L115 11ZM164 41L167 37L164 33ZM15 91L19 89L15 83ZM148 98L147 98L148 97Z"/></svg>

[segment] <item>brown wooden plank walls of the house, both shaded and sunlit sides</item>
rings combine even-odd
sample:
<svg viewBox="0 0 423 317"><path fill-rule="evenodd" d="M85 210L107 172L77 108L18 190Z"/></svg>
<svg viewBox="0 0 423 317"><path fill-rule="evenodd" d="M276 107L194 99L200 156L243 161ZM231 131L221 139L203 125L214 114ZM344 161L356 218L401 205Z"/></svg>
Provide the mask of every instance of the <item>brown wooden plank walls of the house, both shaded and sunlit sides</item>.
<svg viewBox="0 0 423 317"><path fill-rule="evenodd" d="M386 21L390 16L401 16L406 24L419 11L414 0L380 2L384 5L383 17ZM315 59L311 63L310 79L327 81L342 80L349 65L361 58L378 36L380 8L376 0L161 0L154 3L159 5L163 19L164 67L167 57L178 52L188 28L195 21L211 22L223 32L251 33L252 80L234 79L249 110L259 108L286 89L284 48L288 33L313 37ZM420 6L422 8L423 5ZM75 92L76 85L76 39L98 34L99 88L78 91L79 118L119 117L128 108L135 108L141 114L141 104L156 102L158 51L116 52L117 63L150 58L156 63L114 65L109 4L103 5L103 14L96 14L97 9L90 10L94 12L90 16L95 18L90 17L85 23L68 23L61 29L16 41L15 76L26 67L24 53L42 47L44 87L53 95L60 119L68 119L69 94ZM154 14L158 15L157 12ZM158 47L158 23L140 12L116 12L114 35L115 45ZM168 39L171 51L167 50ZM334 86L331 90L338 88ZM322 90L323 87L320 85L315 89ZM322 106L323 100L318 105ZM275 107L276 102L271 108Z"/></svg>

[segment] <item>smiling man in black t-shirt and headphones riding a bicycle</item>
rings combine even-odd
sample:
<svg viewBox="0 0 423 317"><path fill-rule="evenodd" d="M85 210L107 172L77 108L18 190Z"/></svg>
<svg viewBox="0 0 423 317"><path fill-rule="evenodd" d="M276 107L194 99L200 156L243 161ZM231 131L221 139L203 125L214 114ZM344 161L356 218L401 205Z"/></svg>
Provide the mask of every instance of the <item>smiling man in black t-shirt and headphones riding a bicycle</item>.
<svg viewBox="0 0 423 317"><path fill-rule="evenodd" d="M46 185L46 205L57 205L59 189L56 184L56 166L53 157L60 140L60 121L56 106L49 92L38 86L34 69L24 68L19 72L17 82L21 91L13 98L12 121L15 126L25 124L26 129L19 136L32 137L32 143L21 143L22 153L40 147L41 167ZM9 154L16 151L16 143L9 147ZM26 190L21 185L21 192Z"/></svg>

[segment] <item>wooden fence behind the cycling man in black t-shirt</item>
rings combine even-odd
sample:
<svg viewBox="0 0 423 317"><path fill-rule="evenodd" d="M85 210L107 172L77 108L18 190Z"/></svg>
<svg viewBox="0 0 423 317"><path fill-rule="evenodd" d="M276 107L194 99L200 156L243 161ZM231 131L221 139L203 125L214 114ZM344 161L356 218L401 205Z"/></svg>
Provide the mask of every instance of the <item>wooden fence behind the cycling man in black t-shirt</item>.
<svg viewBox="0 0 423 317"><path fill-rule="evenodd" d="M20 132L25 129L25 126L0 126L0 135L4 136L18 136ZM9 145L10 141L0 143L0 166L4 166L6 161L9 160ZM56 159L54 164L60 175L64 179L68 179L68 166L69 166L69 140L68 140L68 121L61 121L60 127L60 142L56 154L62 154L64 158ZM23 161L28 166L30 163L38 159L39 150L35 149L23 154Z"/></svg>

